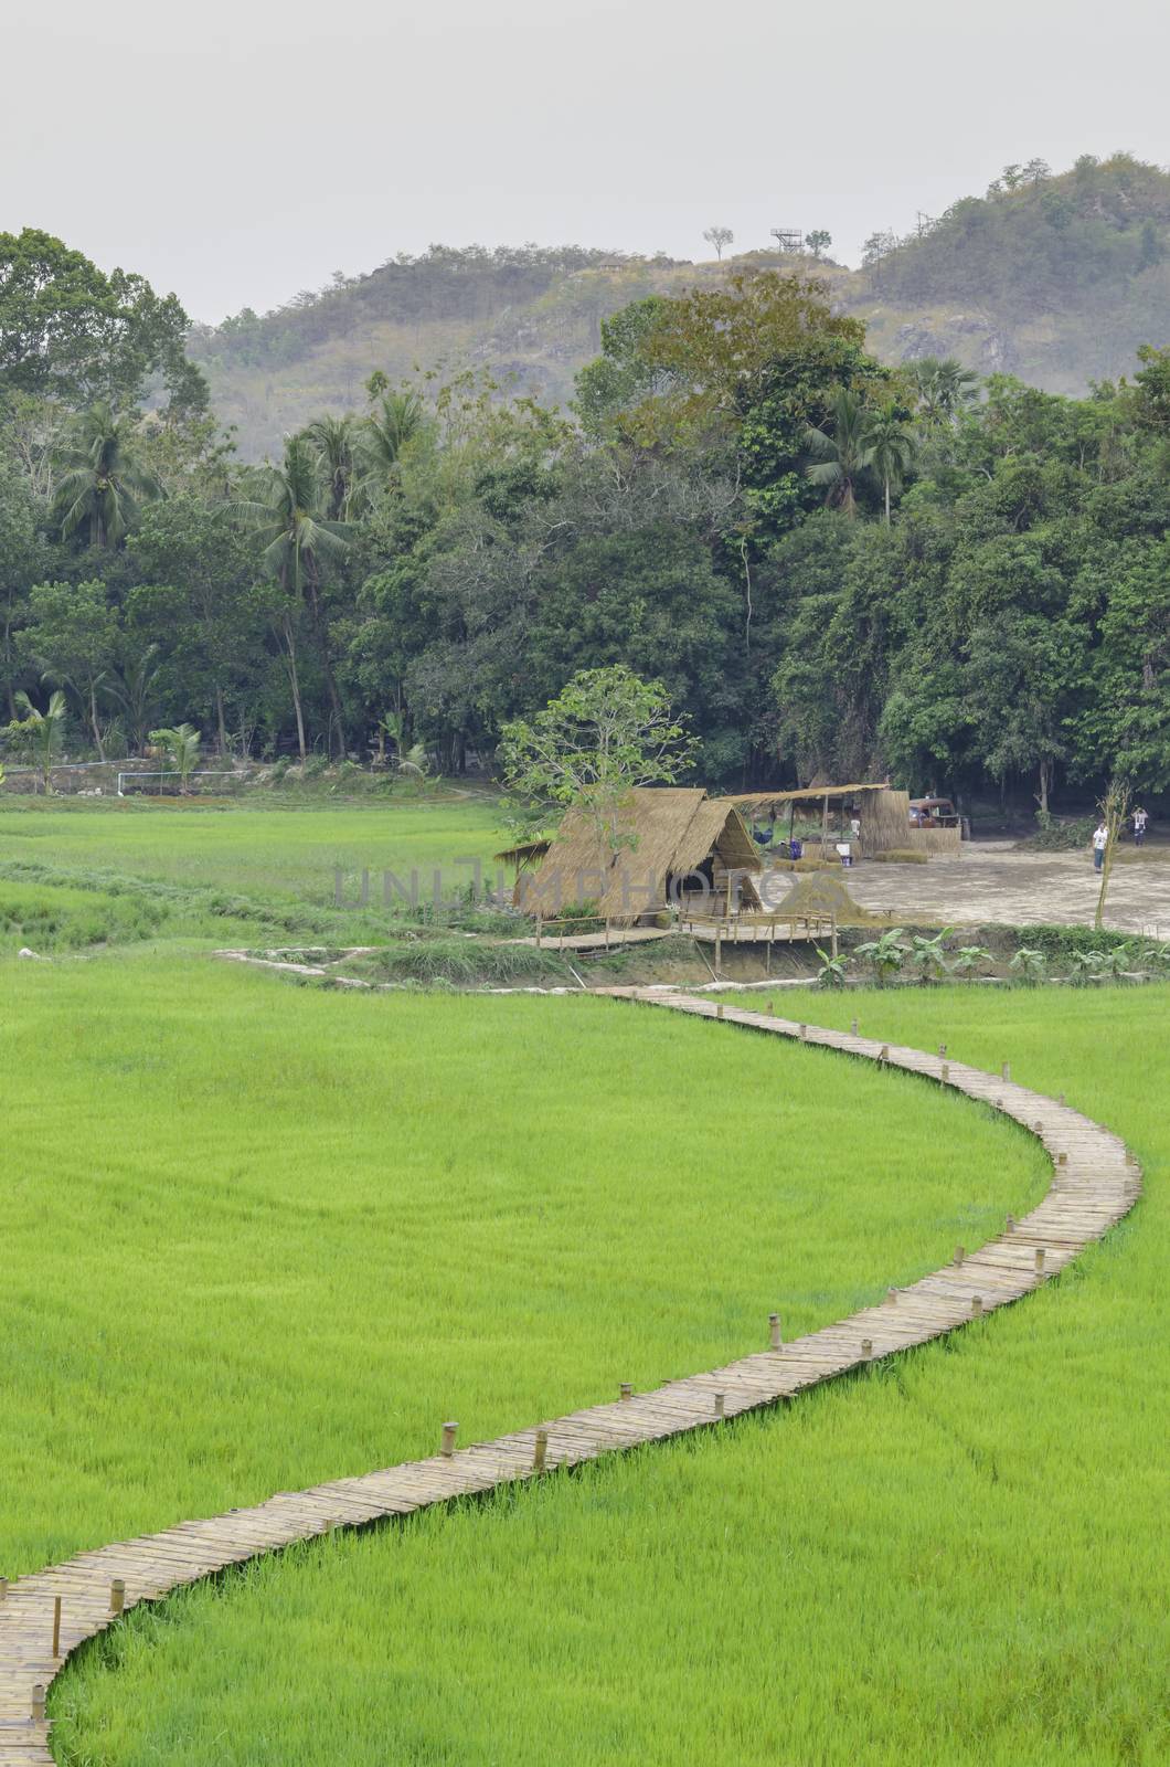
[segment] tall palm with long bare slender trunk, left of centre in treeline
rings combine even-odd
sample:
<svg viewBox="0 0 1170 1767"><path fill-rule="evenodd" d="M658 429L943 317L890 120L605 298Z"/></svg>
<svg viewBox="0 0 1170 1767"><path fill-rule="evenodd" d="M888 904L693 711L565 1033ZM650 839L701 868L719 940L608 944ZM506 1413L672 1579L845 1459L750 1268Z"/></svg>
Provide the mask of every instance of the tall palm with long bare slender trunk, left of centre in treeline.
<svg viewBox="0 0 1170 1767"><path fill-rule="evenodd" d="M255 498L233 505L235 514L263 546L263 565L279 581L285 595L304 599L316 636L322 673L332 709L332 735L345 747L341 698L329 654L329 622L320 597L323 567L346 550L346 525L325 514L327 493L322 482L320 459L306 436L290 436L279 466L262 466L255 477ZM288 622L286 622L288 624ZM292 633L292 627L288 627ZM295 650L290 647L290 671L295 671ZM300 701L293 680L293 700ZM304 744L302 744L304 746Z"/></svg>

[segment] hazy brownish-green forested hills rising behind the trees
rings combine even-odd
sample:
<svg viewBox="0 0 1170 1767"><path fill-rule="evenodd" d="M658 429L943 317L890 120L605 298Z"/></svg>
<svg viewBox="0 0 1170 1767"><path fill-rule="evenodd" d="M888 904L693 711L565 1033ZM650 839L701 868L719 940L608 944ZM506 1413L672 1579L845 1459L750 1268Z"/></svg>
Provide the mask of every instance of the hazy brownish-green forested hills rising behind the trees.
<svg viewBox="0 0 1170 1767"><path fill-rule="evenodd" d="M776 254L691 265L580 246L433 246L274 313L196 327L189 352L255 459L322 410L364 405L371 369L396 380L415 368L486 368L564 405L610 313L767 262ZM1128 154L1085 155L1059 177L1041 161L1007 166L986 196L923 217L908 239L873 233L861 270L818 270L887 362L954 355L981 373L1083 392L1170 334L1170 175Z"/></svg>

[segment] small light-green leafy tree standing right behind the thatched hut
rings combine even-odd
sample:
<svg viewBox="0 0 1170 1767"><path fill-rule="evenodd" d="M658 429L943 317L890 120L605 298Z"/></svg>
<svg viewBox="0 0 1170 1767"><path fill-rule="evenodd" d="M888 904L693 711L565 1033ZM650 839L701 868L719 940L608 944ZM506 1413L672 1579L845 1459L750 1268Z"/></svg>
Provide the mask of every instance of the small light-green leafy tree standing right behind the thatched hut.
<svg viewBox="0 0 1170 1767"><path fill-rule="evenodd" d="M629 793L677 779L691 751L663 686L617 663L581 670L536 717L505 724L500 762L523 804L580 811L601 850L617 853Z"/></svg>

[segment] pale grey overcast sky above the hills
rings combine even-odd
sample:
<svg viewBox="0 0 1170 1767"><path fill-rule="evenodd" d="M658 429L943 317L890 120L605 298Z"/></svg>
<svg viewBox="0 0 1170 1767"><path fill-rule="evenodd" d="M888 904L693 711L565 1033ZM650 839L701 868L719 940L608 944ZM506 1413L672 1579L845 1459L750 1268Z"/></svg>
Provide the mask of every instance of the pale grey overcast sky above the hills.
<svg viewBox="0 0 1170 1767"><path fill-rule="evenodd" d="M1163 0L4 0L0 231L196 320L431 242L855 263L1011 161L1170 159Z"/></svg>

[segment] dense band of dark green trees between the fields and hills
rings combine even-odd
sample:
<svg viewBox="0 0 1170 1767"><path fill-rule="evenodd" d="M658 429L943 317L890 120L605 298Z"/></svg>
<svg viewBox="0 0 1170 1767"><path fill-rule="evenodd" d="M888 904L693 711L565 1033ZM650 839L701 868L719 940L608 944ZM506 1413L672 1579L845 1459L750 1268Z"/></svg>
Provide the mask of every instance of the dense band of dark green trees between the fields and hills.
<svg viewBox="0 0 1170 1767"><path fill-rule="evenodd" d="M60 687L74 747L191 721L458 772L620 661L710 785L1170 783L1168 352L1080 401L893 371L760 272L608 320L569 417L368 392L249 468L194 410L0 375L9 740Z"/></svg>

